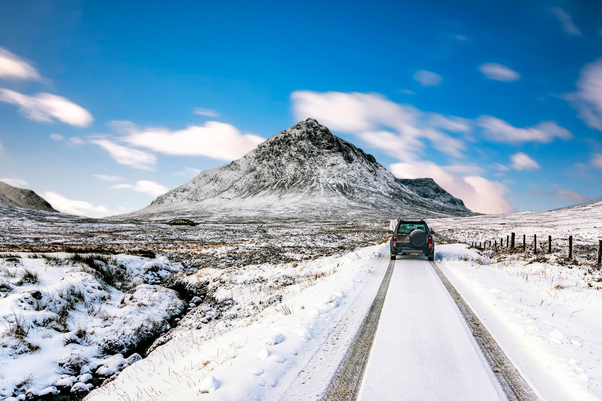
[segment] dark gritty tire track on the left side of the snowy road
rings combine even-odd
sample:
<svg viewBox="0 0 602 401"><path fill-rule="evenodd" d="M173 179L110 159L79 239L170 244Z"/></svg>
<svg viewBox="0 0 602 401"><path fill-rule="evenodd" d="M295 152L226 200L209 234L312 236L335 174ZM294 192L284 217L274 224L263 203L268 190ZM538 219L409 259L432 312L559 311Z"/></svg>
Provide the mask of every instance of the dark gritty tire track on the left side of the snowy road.
<svg viewBox="0 0 602 401"><path fill-rule="evenodd" d="M324 401L347 401L358 398L374 335L376 335L376 329L378 328L380 311L382 311L382 306L385 304L386 291L389 288L394 267L395 260L391 260L376 297L374 297L374 302L372 302L362 325L359 326L358 334L353 338L352 344L337 368L337 372L335 372L328 388L326 388L322 397Z"/></svg>

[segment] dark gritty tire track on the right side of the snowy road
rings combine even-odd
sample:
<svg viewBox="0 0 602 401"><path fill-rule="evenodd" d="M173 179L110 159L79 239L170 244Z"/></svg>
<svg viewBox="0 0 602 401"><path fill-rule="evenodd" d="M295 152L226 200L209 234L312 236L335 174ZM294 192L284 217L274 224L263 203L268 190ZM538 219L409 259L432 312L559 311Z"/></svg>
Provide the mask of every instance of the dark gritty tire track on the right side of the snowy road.
<svg viewBox="0 0 602 401"><path fill-rule="evenodd" d="M500 382L501 388L508 400L539 401L540 399L535 394L535 391L527 384L523 376L518 372L517 367L510 361L506 353L501 349L495 338L485 328L485 325L479 320L479 317L477 317L467 302L464 301L458 290L447 280L447 277L439 269L439 266L432 261L430 264L435 269L447 292L450 293L456 305L458 305L462 316L464 316L464 320L466 320L474 339L479 344L479 348L483 352L483 355L485 355L485 359L488 361L489 366L491 366L498 382Z"/></svg>

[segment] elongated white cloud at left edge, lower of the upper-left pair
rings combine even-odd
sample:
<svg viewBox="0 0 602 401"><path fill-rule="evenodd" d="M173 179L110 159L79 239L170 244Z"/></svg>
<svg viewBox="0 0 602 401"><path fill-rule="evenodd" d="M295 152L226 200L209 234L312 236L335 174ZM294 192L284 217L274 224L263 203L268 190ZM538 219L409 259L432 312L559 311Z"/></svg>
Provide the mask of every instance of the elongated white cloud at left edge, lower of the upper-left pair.
<svg viewBox="0 0 602 401"><path fill-rule="evenodd" d="M0 102L19 106L25 117L51 123L53 118L76 127L87 127L94 120L92 114L66 97L50 93L34 96L0 88Z"/></svg>

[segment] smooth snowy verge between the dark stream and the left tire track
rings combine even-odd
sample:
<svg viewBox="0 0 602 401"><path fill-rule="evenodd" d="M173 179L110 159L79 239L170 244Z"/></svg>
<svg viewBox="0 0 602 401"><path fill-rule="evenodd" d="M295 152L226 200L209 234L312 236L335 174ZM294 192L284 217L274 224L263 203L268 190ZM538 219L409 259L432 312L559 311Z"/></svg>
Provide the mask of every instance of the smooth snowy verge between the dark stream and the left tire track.
<svg viewBox="0 0 602 401"><path fill-rule="evenodd" d="M87 400L278 398L367 280L382 277L387 246L299 263L200 269L191 280L222 283L213 307L193 308L169 341ZM319 375L334 374L336 366Z"/></svg>

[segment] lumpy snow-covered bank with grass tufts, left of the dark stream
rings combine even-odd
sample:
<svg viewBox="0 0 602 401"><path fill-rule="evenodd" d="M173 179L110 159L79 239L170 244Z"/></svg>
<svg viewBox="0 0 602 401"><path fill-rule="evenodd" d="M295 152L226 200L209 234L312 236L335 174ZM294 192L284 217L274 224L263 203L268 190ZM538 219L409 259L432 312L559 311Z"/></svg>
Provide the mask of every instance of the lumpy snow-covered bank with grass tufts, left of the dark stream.
<svg viewBox="0 0 602 401"><path fill-rule="evenodd" d="M184 304L149 283L180 270L166 257L0 254L0 396L68 393L103 357L169 329Z"/></svg>

